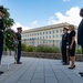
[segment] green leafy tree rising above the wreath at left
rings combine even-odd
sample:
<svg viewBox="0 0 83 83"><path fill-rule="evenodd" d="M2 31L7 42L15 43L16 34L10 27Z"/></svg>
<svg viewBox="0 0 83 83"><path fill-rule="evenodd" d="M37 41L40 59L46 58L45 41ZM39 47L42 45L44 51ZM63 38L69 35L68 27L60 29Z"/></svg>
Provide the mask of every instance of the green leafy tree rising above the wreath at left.
<svg viewBox="0 0 83 83"><path fill-rule="evenodd" d="M0 7L3 7L3 6L0 6ZM14 20L12 18L10 18L10 13L8 10L9 10L8 8L4 8L3 21L4 21L6 29L10 28L14 23Z"/></svg>

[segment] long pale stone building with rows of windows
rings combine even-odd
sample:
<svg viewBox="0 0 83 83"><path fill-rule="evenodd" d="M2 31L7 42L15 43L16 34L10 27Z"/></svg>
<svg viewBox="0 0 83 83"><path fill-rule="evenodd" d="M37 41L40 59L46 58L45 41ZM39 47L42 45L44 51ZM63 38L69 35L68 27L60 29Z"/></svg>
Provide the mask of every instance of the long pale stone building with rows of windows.
<svg viewBox="0 0 83 83"><path fill-rule="evenodd" d="M59 23L53 25L46 25L25 30L22 32L22 42L27 45L53 45L60 46L63 28L68 28L69 23Z"/></svg>

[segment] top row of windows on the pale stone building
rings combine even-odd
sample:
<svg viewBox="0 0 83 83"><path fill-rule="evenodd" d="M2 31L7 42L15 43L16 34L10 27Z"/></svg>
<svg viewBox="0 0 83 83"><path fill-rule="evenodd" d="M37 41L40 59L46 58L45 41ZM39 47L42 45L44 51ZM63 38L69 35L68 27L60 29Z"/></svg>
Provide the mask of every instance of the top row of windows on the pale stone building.
<svg viewBox="0 0 83 83"><path fill-rule="evenodd" d="M33 35L51 34L51 33L59 33L59 30L46 31L46 32L39 32L39 33L30 33L30 34L22 34L22 37L25 38L25 37L33 37ZM62 33L62 30L60 30L60 33Z"/></svg>

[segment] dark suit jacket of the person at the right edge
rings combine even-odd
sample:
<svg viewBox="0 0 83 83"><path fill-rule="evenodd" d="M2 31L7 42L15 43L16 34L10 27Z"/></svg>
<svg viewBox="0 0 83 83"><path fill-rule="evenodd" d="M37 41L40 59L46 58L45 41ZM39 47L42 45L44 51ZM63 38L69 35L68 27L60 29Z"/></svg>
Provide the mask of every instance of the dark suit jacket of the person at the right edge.
<svg viewBox="0 0 83 83"><path fill-rule="evenodd" d="M79 30L77 30L77 44L83 46L83 19L82 19L82 21L79 25Z"/></svg>

